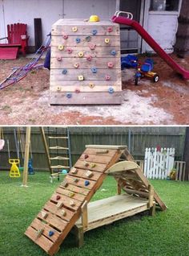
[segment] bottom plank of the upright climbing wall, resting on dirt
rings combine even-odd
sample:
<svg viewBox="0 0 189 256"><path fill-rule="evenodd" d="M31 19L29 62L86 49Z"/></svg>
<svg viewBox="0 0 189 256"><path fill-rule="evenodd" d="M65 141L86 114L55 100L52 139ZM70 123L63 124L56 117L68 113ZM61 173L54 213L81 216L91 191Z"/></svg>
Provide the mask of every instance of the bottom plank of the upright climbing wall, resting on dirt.
<svg viewBox="0 0 189 256"><path fill-rule="evenodd" d="M123 93L50 93L50 105L120 105L123 101Z"/></svg>

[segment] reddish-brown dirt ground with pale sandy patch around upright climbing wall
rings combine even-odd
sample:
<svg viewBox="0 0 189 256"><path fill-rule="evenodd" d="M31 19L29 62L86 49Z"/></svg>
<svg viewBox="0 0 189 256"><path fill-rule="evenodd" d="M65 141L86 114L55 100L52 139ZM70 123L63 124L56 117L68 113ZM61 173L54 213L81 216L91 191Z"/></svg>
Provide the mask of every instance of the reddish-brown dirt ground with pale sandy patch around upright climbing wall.
<svg viewBox="0 0 189 256"><path fill-rule="evenodd" d="M189 70L189 57L172 57ZM141 61L144 57L139 58ZM144 78L134 85L135 70L123 70L122 105L49 105L49 72L30 72L22 81L0 90L0 125L187 125L189 81L183 81L158 56L154 84ZM30 60L0 60L0 81Z"/></svg>

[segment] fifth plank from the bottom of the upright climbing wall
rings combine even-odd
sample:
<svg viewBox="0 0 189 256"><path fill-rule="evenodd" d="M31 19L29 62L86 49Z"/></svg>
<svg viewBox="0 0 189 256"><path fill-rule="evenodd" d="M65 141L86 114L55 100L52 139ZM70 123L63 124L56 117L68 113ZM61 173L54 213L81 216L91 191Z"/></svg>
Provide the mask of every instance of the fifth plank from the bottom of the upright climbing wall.
<svg viewBox="0 0 189 256"><path fill-rule="evenodd" d="M71 47L72 52L69 54L70 47L65 47L62 51L58 50L58 47L51 47L51 58L57 58L58 56L62 58L78 58L78 53L82 52L83 56L82 58L86 58L87 56L92 56L92 58L107 58L114 60L115 57L119 58L120 57L120 47L115 46L106 46L106 47L96 47L93 51L90 50L89 47L80 47L80 46L73 46ZM111 54L111 51L115 51L115 55ZM82 59L81 58L81 59ZM88 60L86 60L87 62ZM90 62L90 61L89 61ZM65 67L66 68L66 67Z"/></svg>

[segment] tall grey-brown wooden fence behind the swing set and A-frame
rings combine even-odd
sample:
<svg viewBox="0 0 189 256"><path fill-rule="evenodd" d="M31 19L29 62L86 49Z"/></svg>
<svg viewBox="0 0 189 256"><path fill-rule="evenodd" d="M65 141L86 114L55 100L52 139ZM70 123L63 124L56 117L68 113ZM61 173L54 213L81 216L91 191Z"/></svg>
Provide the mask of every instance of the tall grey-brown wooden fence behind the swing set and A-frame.
<svg viewBox="0 0 189 256"><path fill-rule="evenodd" d="M45 127L47 135L66 134L65 127ZM21 127L25 135L26 128ZM144 159L146 147L174 147L175 159L182 160L185 127L125 127L125 126L70 126L70 151L73 164L82 154L86 144L127 145L135 159ZM38 127L31 129L31 148L34 169L47 171L47 162L42 137ZM16 158L14 127L3 127L4 138L10 142L10 156ZM22 162L22 159L21 159ZM8 170L7 143L0 151L0 170Z"/></svg>

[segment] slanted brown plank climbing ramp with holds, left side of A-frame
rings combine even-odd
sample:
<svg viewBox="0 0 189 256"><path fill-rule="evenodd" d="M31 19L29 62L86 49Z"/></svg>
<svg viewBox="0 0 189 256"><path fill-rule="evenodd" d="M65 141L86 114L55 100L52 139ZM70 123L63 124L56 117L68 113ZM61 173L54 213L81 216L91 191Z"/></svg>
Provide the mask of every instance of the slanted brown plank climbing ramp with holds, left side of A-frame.
<svg viewBox="0 0 189 256"><path fill-rule="evenodd" d="M30 237L47 254L55 254L67 233L106 177L105 171L119 161L125 147L86 146L50 200L26 229Z"/></svg>

